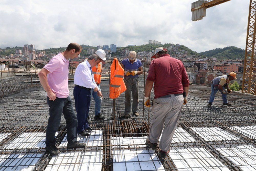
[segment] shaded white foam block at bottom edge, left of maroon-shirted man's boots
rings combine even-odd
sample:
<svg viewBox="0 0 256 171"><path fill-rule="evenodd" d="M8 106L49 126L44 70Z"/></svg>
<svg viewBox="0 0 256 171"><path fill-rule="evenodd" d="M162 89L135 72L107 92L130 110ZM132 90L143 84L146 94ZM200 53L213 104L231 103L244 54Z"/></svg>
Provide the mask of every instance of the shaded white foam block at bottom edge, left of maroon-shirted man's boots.
<svg viewBox="0 0 256 171"><path fill-rule="evenodd" d="M113 170L164 170L153 150L113 150Z"/></svg>

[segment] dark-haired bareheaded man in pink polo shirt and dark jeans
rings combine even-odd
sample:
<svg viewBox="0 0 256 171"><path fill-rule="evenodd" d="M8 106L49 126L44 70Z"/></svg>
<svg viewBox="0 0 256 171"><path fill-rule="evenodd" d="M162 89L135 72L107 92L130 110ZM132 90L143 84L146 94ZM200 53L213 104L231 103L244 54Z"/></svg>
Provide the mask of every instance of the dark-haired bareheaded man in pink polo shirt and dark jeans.
<svg viewBox="0 0 256 171"><path fill-rule="evenodd" d="M70 43L64 52L54 56L38 73L40 83L47 93L50 115L46 128L45 150L52 155L60 153L55 146L55 133L60 126L62 113L67 123L67 148L86 146L86 143L77 141L77 116L68 89L68 59L76 58L81 51L79 44Z"/></svg>

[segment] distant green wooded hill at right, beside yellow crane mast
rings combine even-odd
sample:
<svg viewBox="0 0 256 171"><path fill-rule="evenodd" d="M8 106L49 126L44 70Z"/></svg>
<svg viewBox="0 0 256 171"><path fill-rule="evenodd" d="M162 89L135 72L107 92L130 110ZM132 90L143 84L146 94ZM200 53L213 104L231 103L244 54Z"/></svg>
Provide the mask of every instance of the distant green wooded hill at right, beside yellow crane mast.
<svg viewBox="0 0 256 171"><path fill-rule="evenodd" d="M213 50L200 52L199 54L210 58L217 58L217 60L244 59L245 50L235 46L228 46L226 48L216 48Z"/></svg>

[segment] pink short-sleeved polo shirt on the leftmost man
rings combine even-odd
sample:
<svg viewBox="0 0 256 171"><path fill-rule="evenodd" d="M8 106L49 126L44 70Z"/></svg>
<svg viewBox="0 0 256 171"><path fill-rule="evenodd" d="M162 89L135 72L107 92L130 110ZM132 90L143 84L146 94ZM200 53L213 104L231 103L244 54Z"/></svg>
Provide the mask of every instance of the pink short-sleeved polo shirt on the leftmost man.
<svg viewBox="0 0 256 171"><path fill-rule="evenodd" d="M69 96L68 65L69 61L59 53L44 66L50 72L47 74L47 81L51 91L58 98L67 98Z"/></svg>

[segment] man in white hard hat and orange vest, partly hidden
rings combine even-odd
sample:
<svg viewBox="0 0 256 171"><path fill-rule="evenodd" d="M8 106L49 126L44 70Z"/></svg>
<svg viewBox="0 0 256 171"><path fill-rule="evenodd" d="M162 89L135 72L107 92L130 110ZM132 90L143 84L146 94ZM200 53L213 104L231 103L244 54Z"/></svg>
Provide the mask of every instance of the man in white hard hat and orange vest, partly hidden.
<svg viewBox="0 0 256 171"><path fill-rule="evenodd" d="M106 60L106 53L104 50L99 49L97 50L97 52L95 53L98 56L100 56L100 58L104 61ZM87 59L86 59L87 60ZM84 60L84 61L86 61ZM92 67L92 74L93 74L93 78L95 83L98 86L99 91L101 91L100 89L100 79L101 79L101 74L102 74L102 62L100 62L98 65L95 65L95 67ZM94 106L94 111L95 111L95 115L94 115L94 119L98 119L98 120L104 120L105 117L102 116L102 113L100 113L100 108L101 108L101 100L103 98L103 96L98 96L97 92L93 91L91 89L91 102L92 102L92 97L95 101L95 106ZM92 121L89 119L89 117L87 118L88 123L92 124Z"/></svg>

